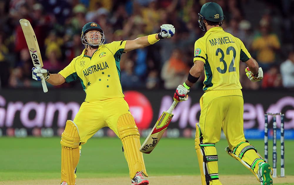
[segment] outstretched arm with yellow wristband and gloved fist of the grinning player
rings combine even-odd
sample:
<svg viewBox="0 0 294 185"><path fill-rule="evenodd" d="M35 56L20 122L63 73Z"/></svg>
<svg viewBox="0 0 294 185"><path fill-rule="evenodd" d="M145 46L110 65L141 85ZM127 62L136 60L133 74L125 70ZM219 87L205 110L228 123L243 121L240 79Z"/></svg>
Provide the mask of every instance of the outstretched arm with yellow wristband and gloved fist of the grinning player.
<svg viewBox="0 0 294 185"><path fill-rule="evenodd" d="M176 32L175 28L171 24L163 24L160 27L161 27L160 33L138 37L135 40L126 41L124 52L132 51L138 48L144 48L146 46L156 43L162 38L170 38Z"/></svg>

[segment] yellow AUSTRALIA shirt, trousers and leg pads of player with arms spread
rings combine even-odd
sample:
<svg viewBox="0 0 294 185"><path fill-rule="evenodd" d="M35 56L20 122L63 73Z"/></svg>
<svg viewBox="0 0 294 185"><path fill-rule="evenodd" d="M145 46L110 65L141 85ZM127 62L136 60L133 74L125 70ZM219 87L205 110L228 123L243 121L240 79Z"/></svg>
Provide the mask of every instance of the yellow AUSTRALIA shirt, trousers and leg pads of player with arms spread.
<svg viewBox="0 0 294 185"><path fill-rule="evenodd" d="M121 139L130 178L137 171L148 176L143 154L139 152L140 134L121 87L120 59L125 45L126 41L100 45L92 57L87 56L87 49L84 49L59 72L67 83L80 80L86 92L86 99L74 121L66 122L61 136L61 182L74 184L81 148L78 146L85 144L102 127L109 127Z"/></svg>

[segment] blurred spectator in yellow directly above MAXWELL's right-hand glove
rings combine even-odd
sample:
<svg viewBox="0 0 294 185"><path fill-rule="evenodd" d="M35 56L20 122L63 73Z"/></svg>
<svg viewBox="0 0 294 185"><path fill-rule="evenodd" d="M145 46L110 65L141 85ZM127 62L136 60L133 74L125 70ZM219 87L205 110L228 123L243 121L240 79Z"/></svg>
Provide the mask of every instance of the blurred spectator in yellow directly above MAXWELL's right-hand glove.
<svg viewBox="0 0 294 185"><path fill-rule="evenodd" d="M260 36L252 43L252 50L256 51L259 66L268 70L275 62L275 53L280 49L280 42L275 33L270 33L269 23L265 19L260 21Z"/></svg>

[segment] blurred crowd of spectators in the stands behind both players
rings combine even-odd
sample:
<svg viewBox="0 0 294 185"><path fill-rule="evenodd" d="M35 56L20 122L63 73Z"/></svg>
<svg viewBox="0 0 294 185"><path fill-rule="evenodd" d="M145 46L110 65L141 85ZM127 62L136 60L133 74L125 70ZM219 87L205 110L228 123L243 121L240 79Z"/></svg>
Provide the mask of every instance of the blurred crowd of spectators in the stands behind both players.
<svg viewBox="0 0 294 185"><path fill-rule="evenodd" d="M176 34L121 57L123 88L175 89L193 65L194 42L205 32L198 13L206 0L1 0L1 88L39 87L33 80L31 57L19 19L35 31L44 68L58 73L80 55L81 28L87 22L102 27L106 43L158 33L173 24ZM252 83L240 63L243 89L294 88L294 1L216 0L223 8L223 29L240 38L263 68L264 79ZM193 88L202 88L204 75ZM59 87L79 87L80 82Z"/></svg>

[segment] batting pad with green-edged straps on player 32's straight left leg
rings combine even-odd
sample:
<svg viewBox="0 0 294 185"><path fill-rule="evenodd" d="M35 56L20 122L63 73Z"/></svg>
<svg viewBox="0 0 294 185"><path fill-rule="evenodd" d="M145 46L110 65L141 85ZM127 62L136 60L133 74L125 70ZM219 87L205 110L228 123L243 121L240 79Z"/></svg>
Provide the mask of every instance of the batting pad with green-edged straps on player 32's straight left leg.
<svg viewBox="0 0 294 185"><path fill-rule="evenodd" d="M218 180L218 155L213 143L202 143L202 134L199 125L196 124L195 149L197 153L201 184L221 185Z"/></svg>

